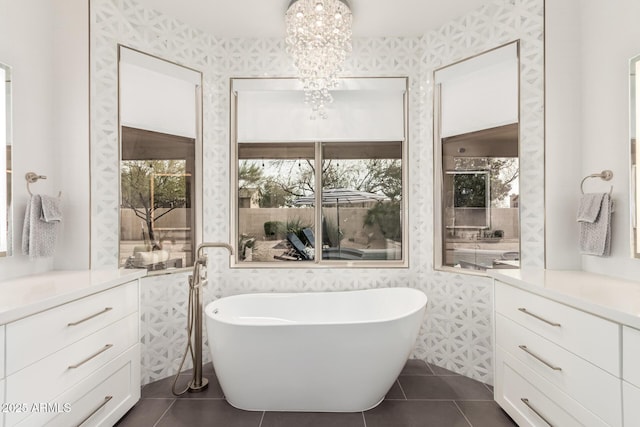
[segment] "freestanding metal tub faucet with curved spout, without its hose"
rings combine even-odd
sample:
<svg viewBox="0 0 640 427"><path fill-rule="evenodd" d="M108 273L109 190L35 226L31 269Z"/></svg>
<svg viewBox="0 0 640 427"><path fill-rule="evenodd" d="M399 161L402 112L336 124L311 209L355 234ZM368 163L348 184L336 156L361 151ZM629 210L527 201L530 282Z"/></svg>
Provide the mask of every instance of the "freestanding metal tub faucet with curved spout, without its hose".
<svg viewBox="0 0 640 427"><path fill-rule="evenodd" d="M203 279L200 269L207 266L207 257L203 255L204 249L207 248L225 248L229 251L229 255L233 255L233 248L230 244L224 242L204 242L198 245L196 250L196 260L193 264L193 273L189 279L192 290L195 292L194 301L194 362L193 362L193 381L189 385L189 392L196 393L205 390L209 381L202 377L202 286L206 283ZM206 270L205 270L206 272Z"/></svg>

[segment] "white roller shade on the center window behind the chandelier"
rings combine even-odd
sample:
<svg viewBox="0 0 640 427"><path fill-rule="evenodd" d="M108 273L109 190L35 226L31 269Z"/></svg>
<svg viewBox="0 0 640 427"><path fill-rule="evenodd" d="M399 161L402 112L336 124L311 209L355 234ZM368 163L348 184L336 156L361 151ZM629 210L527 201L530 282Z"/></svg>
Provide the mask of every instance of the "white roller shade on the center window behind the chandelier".
<svg viewBox="0 0 640 427"><path fill-rule="evenodd" d="M402 141L406 79L342 79L312 120L295 79L238 79L238 142Z"/></svg>

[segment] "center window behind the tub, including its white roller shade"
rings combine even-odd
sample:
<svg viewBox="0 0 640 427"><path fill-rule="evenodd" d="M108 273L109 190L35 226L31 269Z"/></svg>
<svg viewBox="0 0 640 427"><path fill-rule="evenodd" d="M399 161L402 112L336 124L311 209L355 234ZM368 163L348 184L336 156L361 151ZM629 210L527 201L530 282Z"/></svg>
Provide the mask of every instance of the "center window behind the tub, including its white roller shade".
<svg viewBox="0 0 640 427"><path fill-rule="evenodd" d="M406 79L359 80L315 121L287 79L240 80L236 265L405 266Z"/></svg>

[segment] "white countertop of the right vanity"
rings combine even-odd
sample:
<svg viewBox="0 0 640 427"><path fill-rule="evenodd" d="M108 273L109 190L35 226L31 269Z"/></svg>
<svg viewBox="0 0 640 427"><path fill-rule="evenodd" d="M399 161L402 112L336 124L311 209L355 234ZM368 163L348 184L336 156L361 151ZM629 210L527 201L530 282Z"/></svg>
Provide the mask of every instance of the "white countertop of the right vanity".
<svg viewBox="0 0 640 427"><path fill-rule="evenodd" d="M517 288L640 329L640 282L584 271L505 269L488 274Z"/></svg>

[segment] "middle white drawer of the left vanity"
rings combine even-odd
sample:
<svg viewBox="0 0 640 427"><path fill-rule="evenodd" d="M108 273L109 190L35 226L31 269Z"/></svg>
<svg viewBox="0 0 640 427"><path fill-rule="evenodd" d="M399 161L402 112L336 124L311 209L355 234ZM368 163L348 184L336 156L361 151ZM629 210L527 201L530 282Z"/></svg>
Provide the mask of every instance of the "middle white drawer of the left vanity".
<svg viewBox="0 0 640 427"><path fill-rule="evenodd" d="M27 369L7 377L7 400L10 402L49 402L61 392L93 374L138 342L138 313L42 359ZM8 414L13 425L25 414Z"/></svg>

